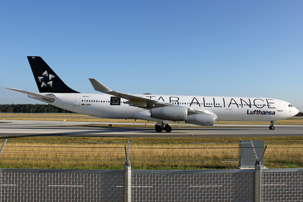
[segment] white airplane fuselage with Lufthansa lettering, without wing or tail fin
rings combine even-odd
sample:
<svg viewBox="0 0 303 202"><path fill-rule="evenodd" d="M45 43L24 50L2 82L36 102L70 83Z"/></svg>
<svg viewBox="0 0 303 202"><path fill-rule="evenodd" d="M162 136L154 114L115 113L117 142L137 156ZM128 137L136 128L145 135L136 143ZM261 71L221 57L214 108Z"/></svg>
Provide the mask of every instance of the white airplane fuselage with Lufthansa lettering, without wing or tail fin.
<svg viewBox="0 0 303 202"><path fill-rule="evenodd" d="M39 93L47 95L49 93ZM51 93L56 107L94 117L112 119L142 119L161 121L150 117L150 109L129 106L121 98L120 105L111 105L111 95L85 93ZM272 98L185 96L185 95L138 95L180 106L214 113L216 121L276 121L290 118L298 113L290 103ZM28 96L31 97L31 96ZM32 98L32 97L31 97ZM169 121L169 120L168 120Z"/></svg>

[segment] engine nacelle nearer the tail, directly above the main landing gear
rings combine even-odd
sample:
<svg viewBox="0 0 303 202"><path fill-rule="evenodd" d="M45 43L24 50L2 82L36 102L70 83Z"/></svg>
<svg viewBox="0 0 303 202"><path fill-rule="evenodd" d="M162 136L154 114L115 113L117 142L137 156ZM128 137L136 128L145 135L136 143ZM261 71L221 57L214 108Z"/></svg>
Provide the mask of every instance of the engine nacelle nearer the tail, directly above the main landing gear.
<svg viewBox="0 0 303 202"><path fill-rule="evenodd" d="M168 121L185 121L187 118L187 107L167 106L151 108L151 118Z"/></svg>

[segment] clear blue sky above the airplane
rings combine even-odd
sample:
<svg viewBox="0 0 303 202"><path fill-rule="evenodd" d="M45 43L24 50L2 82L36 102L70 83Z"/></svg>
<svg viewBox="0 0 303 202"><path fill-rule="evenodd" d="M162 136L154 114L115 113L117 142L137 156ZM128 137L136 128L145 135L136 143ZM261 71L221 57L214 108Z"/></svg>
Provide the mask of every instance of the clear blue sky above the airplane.
<svg viewBox="0 0 303 202"><path fill-rule="evenodd" d="M41 103L26 56L72 89L269 97L303 111L303 1L1 1L0 104ZM97 92L96 92L97 93Z"/></svg>

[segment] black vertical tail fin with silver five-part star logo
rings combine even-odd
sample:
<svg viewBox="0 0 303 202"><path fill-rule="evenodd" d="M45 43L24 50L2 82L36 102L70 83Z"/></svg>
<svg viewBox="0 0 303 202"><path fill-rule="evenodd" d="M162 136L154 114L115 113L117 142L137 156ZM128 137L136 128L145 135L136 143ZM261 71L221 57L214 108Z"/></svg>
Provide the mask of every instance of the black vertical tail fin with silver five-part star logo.
<svg viewBox="0 0 303 202"><path fill-rule="evenodd" d="M79 93L69 88L38 56L27 56L40 93Z"/></svg>

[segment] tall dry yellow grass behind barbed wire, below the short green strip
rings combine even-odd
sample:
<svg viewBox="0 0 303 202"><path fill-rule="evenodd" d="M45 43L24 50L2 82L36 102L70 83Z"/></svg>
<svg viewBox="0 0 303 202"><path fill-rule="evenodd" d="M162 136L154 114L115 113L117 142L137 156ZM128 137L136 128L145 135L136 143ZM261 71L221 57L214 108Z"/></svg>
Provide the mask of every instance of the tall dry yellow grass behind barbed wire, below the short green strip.
<svg viewBox="0 0 303 202"><path fill-rule="evenodd" d="M265 166L302 167L302 144L269 144ZM238 144L131 144L132 169L235 169ZM8 141L0 167L123 169L124 144Z"/></svg>

